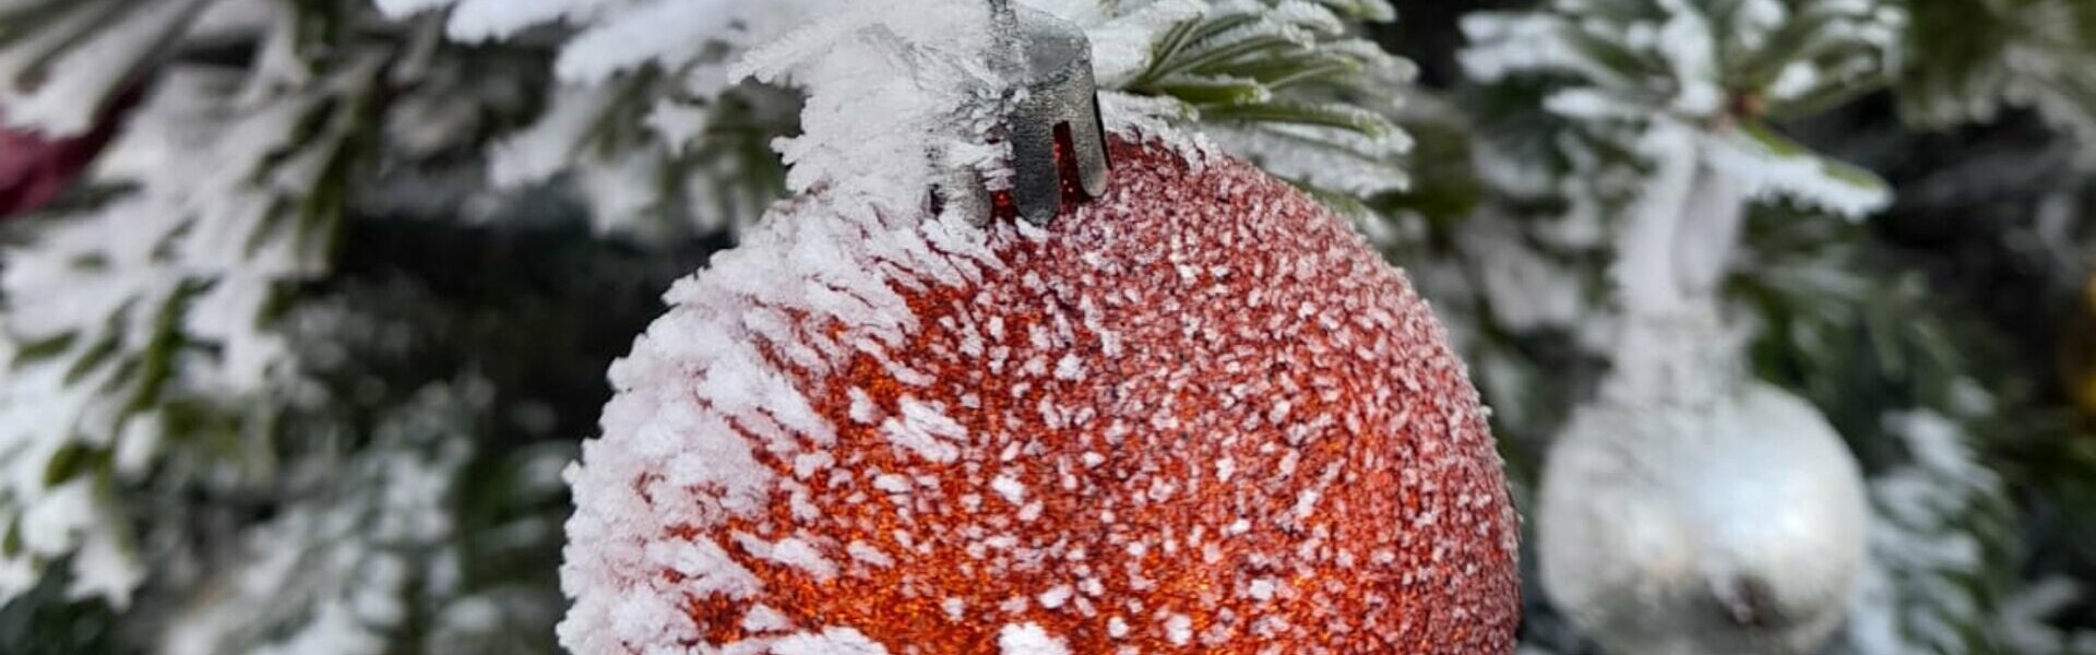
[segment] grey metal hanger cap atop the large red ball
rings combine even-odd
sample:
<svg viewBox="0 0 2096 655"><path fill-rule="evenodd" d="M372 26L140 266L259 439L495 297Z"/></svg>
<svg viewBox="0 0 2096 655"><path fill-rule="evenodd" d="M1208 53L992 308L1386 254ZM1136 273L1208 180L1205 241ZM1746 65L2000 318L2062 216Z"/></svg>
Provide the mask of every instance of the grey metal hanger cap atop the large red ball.
<svg viewBox="0 0 2096 655"><path fill-rule="evenodd" d="M1088 197L1107 193L1107 128L1098 115L1092 42L1084 29L1046 13L1021 15L1012 0L989 0L996 67L1014 80L1006 136L1012 143L1012 199L1019 216L1048 225L1063 210L1063 172ZM1065 162L1067 157L1067 162Z"/></svg>

